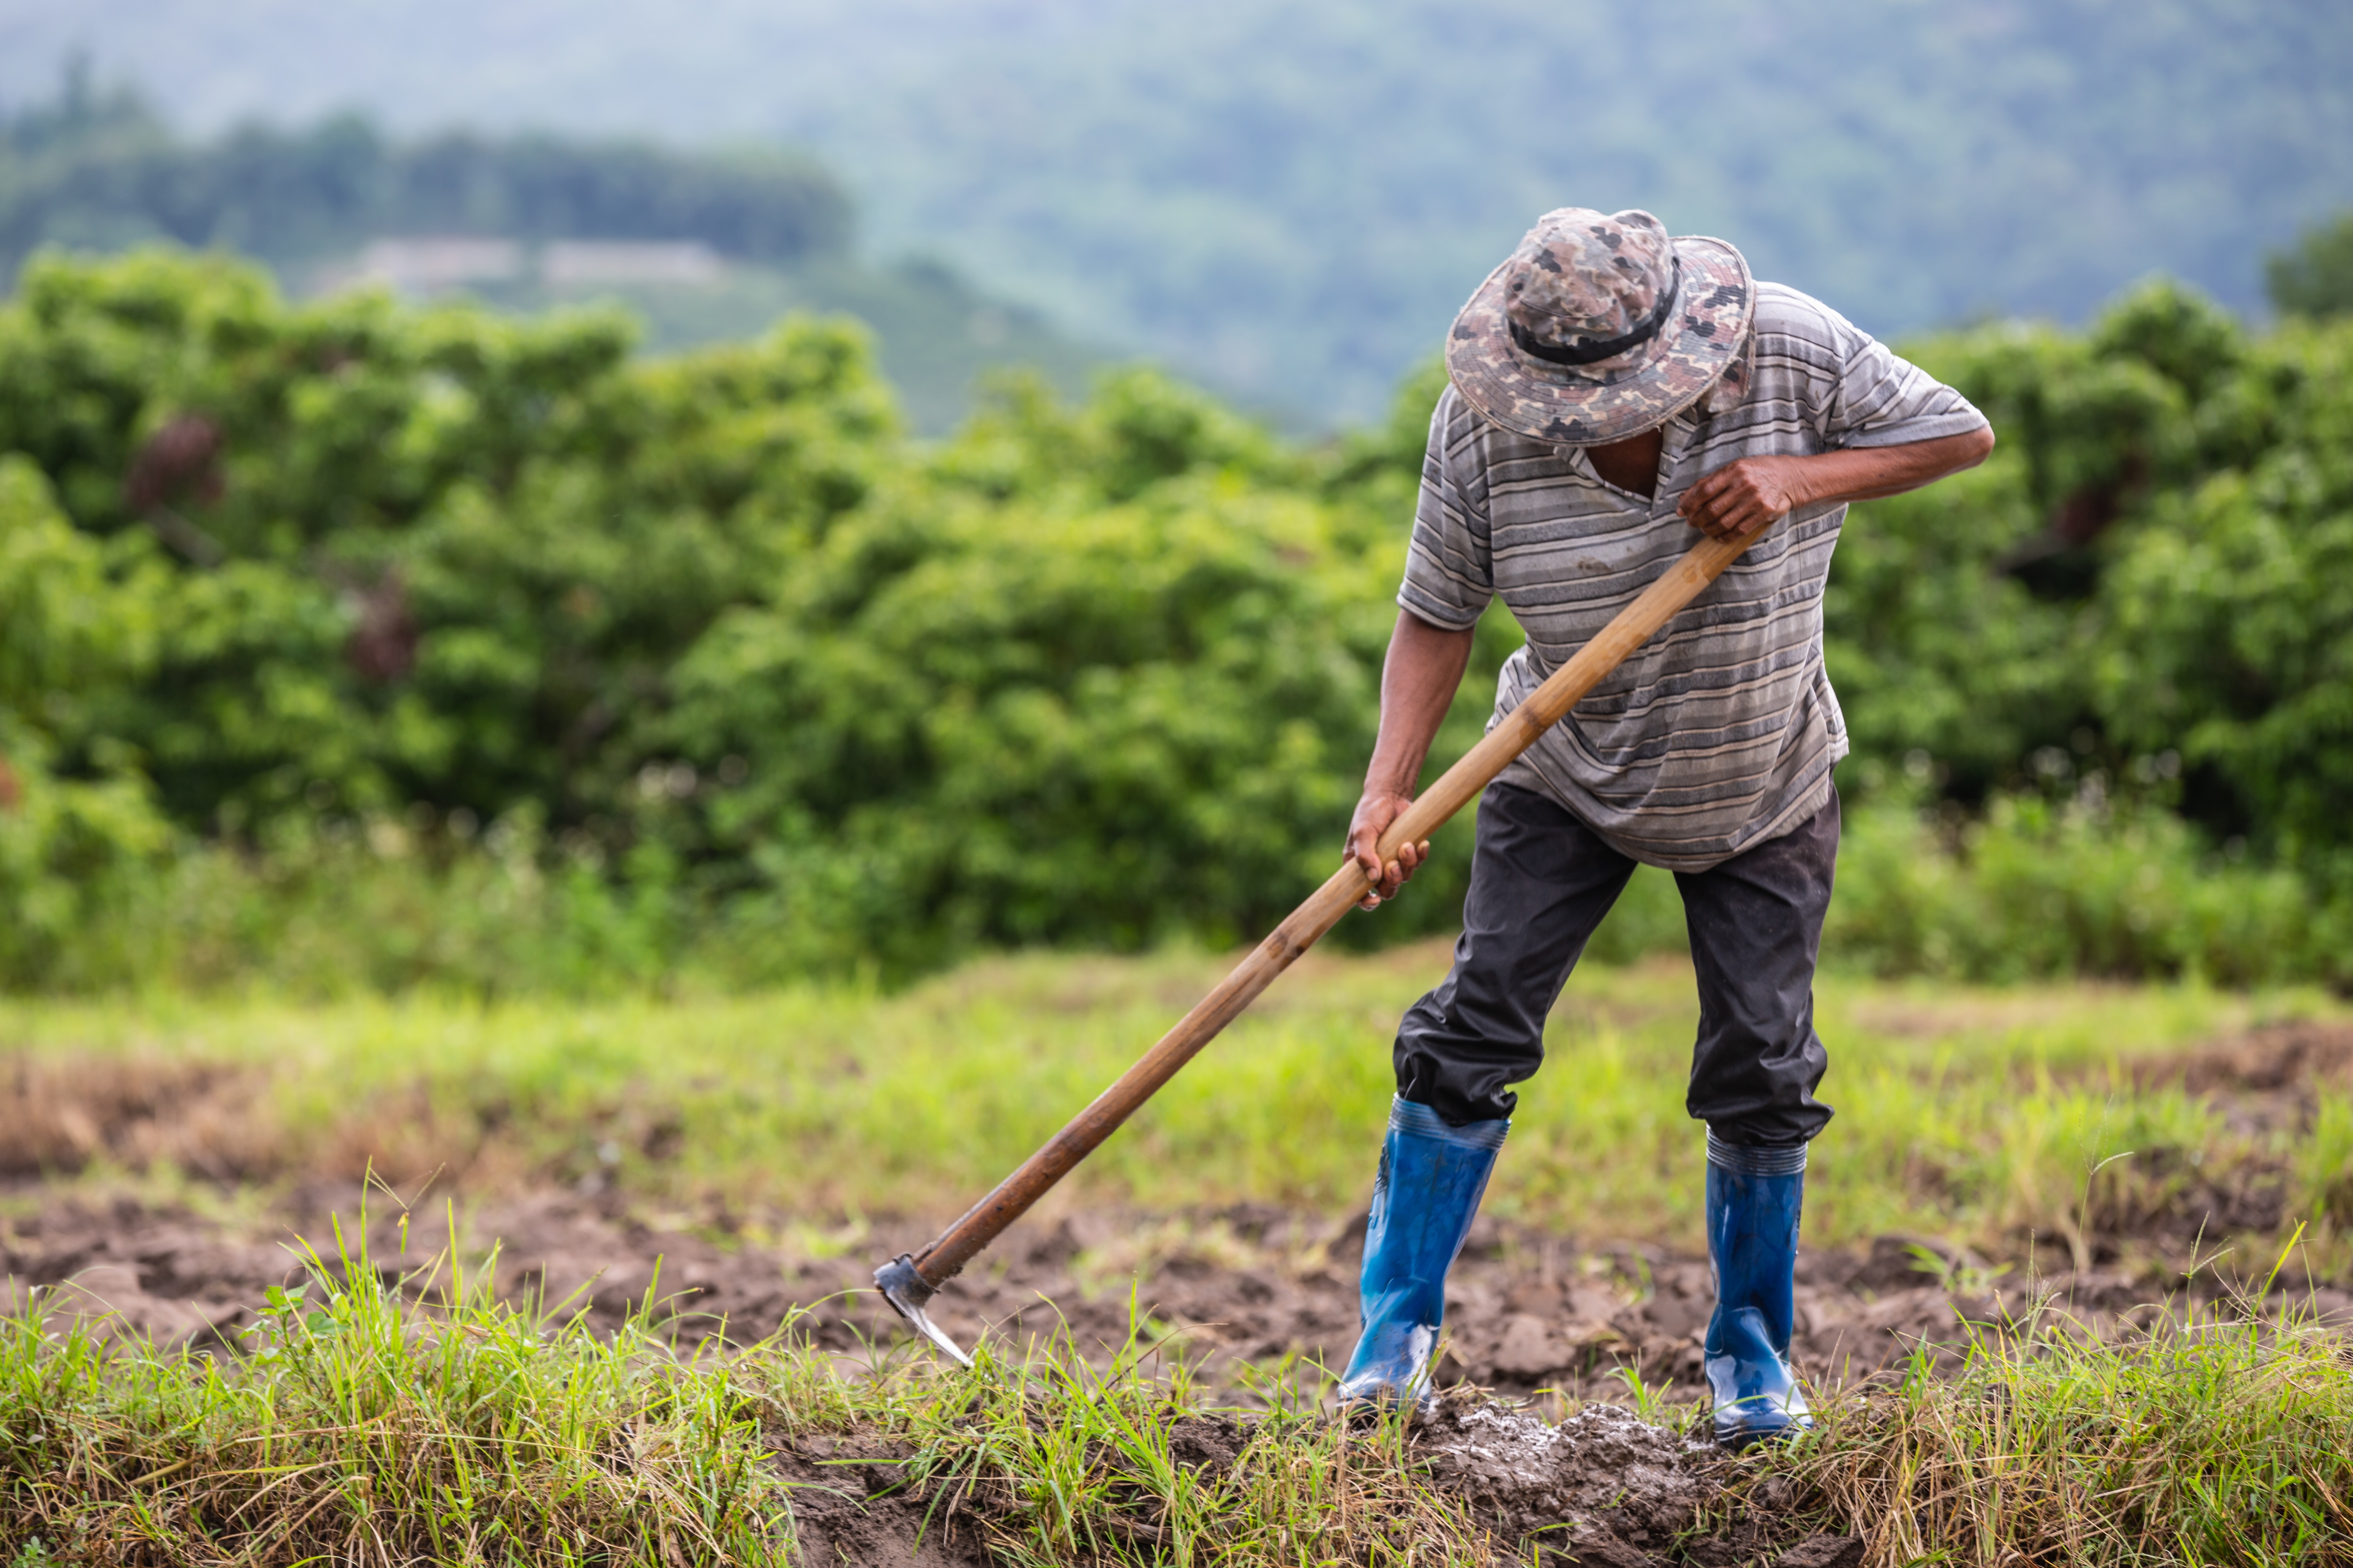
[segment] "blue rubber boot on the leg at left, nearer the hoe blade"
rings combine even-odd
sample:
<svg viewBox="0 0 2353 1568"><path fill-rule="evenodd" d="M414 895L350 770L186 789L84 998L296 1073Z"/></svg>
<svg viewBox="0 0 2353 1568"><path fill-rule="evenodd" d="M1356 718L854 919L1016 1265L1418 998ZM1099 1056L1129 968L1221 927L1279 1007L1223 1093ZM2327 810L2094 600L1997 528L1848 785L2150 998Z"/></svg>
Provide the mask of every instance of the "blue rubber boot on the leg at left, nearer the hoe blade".
<svg viewBox="0 0 2353 1568"><path fill-rule="evenodd" d="M1508 1117L1447 1126L1428 1105L1391 1103L1365 1225L1365 1331L1339 1385L1344 1406L1428 1399L1447 1269L1464 1251L1508 1131Z"/></svg>

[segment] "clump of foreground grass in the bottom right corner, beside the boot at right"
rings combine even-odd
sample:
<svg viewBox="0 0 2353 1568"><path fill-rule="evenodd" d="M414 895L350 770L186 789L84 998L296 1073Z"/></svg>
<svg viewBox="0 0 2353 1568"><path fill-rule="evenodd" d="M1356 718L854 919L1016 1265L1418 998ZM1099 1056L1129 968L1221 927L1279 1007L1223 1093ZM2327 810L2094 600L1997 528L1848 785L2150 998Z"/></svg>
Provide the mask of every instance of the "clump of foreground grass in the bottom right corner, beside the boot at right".
<svg viewBox="0 0 2353 1568"><path fill-rule="evenodd" d="M2353 1563L2353 1354L2252 1309L1979 1326L1960 1373L1831 1399L1786 1469L1868 1563Z"/></svg>

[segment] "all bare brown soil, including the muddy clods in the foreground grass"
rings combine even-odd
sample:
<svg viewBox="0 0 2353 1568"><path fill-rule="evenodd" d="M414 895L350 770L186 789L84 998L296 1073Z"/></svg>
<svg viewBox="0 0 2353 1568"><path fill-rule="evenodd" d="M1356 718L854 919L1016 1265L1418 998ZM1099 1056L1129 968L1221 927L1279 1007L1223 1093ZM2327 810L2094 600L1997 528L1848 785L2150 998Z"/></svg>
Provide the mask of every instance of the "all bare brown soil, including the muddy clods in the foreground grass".
<svg viewBox="0 0 2353 1568"><path fill-rule="evenodd" d="M2353 1030L2282 1025L2141 1072L2212 1095L2238 1128L2301 1131L2311 1126L2318 1086L2353 1081ZM134 1190L108 1197L89 1178L33 1175L56 1168L71 1150L111 1147L120 1140L118 1124L162 1138L179 1112L231 1117L231 1084L125 1088L120 1103L89 1105L19 1077L16 1098L14 1114L0 1117L0 1178L14 1178L0 1185L0 1309L21 1309L31 1288L49 1286L40 1302L52 1316L85 1316L96 1333L233 1354L264 1291L304 1274L299 1239L332 1255L329 1215L344 1215L351 1234L362 1204L358 1187L308 1185L285 1190L266 1213L235 1206L205 1213ZM12 1140L12 1128L26 1138ZM235 1182L235 1171L212 1175L219 1190ZM2238 1213L2228 1208L2238 1204L2242 1220L2261 1220L2266 1180L2273 1175L2254 1168L2228 1190L2177 1182L2177 1208ZM214 1199L198 1192L195 1201ZM386 1222L393 1201L376 1194L367 1206L369 1258L388 1276L424 1267L449 1244L440 1194L409 1215L405 1248ZM496 1239L496 1286L513 1300L562 1312L586 1307L600 1328L652 1302L687 1338L748 1342L788 1328L845 1368L908 1345L904 1326L868 1288L871 1269L927 1239L944 1218L901 1215L842 1232L847 1246L826 1255L826 1246L784 1241L816 1234L791 1225L791 1215L767 1215L765 1225L760 1215L725 1211L664 1215L612 1190L475 1190L459 1194L459 1251L482 1255ZM2113 1218L2169 1237L2181 1215ZM1252 1392L1231 1375L1238 1361L1266 1368L1289 1359L1294 1378L1313 1385L1318 1366L1339 1366L1348 1354L1362 1225L1362 1213L1261 1206L1033 1218L951 1281L934 1300L934 1316L965 1345L981 1333L1014 1345L1068 1335L1099 1359L1139 1340L1184 1354L1235 1415L1184 1422L1174 1434L1176 1458L1224 1467L1247 1441L1242 1410ZM1953 1359L1965 1321L2021 1312L2019 1300L1953 1288L1972 1279L1986 1279L1979 1260L1922 1237L1880 1237L1859 1251L1807 1248L1795 1359L1812 1378L1838 1382L1875 1378L1922 1347L1932 1359ZM2353 1326L2353 1295L2332 1281L2282 1286L2322 1319ZM2047 1274L2042 1288L2099 1326L2155 1300L2162 1281L2080 1267ZM1708 1307L1704 1258L1640 1241L1581 1244L1480 1218L1447 1291L1452 1340L1440 1378L1459 1392L1414 1439L1431 1476L1478 1509L1501 1540L1534 1533L1529 1540L1546 1563L1857 1563L1861 1542L1852 1537L1769 1537L1765 1521L1777 1516L1769 1497L1753 1500L1765 1507L1729 1509L1732 1526L1694 1537L1701 1509L1725 1497L1732 1462L1612 1408L1631 1394L1624 1371L1664 1385L1671 1399L1699 1392ZM911 1497L896 1469L901 1458L887 1443L859 1439L800 1439L779 1450L779 1467L805 1481L795 1490L809 1549L802 1561L932 1568L988 1561L984 1521ZM1722 1519L1725 1509L1711 1516Z"/></svg>

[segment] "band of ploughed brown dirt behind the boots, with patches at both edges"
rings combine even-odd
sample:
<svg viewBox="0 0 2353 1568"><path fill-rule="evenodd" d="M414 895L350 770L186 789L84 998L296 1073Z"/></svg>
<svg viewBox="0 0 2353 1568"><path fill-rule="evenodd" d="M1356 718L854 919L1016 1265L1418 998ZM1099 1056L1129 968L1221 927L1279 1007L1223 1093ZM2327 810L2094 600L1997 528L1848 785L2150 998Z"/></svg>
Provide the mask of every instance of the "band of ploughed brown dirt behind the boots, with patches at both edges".
<svg viewBox="0 0 2353 1568"><path fill-rule="evenodd" d="M2184 1084L2224 1107L2235 1128L2308 1131L2315 1086L2353 1074L2353 1030L2285 1025L2181 1058L2144 1065L2144 1077ZM122 1095L104 1103L56 1095L54 1079L16 1074L0 1105L0 1269L7 1291L73 1284L125 1326L160 1340L233 1345L271 1284L299 1272L306 1239L332 1251L334 1215L346 1227L362 1190L296 1182L266 1211L205 1218L186 1204L108 1194L104 1182L21 1175L56 1168L59 1150L134 1154L184 1140L174 1119L209 1117L205 1095ZM16 1147L26 1145L26 1147ZM1915 1345L1948 1345L1962 1321L2068 1312L2092 1328L2153 1302L2212 1298L2221 1269L2184 1291L2179 1260L2200 1239L2280 1225L2285 1168L2254 1161L2224 1180L2181 1171L2165 1201L2097 1215L2092 1234L2021 1237L2002 1258L1972 1258L1934 1237L1880 1237L1868 1251L1807 1248L1798 1276L1798 1356L1814 1378L1854 1380L1887 1368ZM920 1246L944 1215L842 1222L828 1215L652 1213L595 1178L569 1187L442 1190L412 1194L407 1253L395 1260L400 1206L374 1194L372 1253L384 1267L421 1265L447 1246L459 1255L499 1244L499 1288L511 1298L586 1302L619 1321L652 1295L692 1338L755 1340L793 1319L845 1356L901 1340L899 1324L866 1291L882 1258ZM1355 1338L1355 1265L1362 1213L1297 1213L1266 1206L1146 1213L1082 1208L1016 1225L936 1302L939 1321L972 1342L979 1333L1056 1333L1096 1352L1144 1338L1169 1340L1219 1375L1233 1361L1282 1359L1337 1366ZM2212 1248L2209 1248L2212 1251ZM2266 1258L2247 1260L2261 1272ZM659 1269L659 1274L656 1274ZM2238 1269L2247 1274L2247 1267ZM2353 1321L2344 1279L2289 1267L2278 1291L2332 1321ZM1482 1215L1449 1288L1447 1380L1504 1394L1551 1389L1560 1408L1624 1399L1619 1368L1689 1394L1699 1331L1708 1314L1708 1267L1699 1255L1642 1241L1546 1234ZM1134 1295L1132 1295L1134 1293ZM1301 1371L1301 1375L1311 1375ZM1219 1378L1224 1382L1224 1378Z"/></svg>

